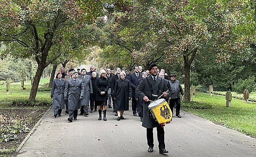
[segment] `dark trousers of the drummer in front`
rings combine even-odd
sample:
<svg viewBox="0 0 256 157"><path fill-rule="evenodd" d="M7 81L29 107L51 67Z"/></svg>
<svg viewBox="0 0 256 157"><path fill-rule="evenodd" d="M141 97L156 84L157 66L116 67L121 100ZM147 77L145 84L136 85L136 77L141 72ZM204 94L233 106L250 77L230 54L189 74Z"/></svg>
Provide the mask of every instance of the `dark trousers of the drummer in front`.
<svg viewBox="0 0 256 157"><path fill-rule="evenodd" d="M156 131L159 150L162 148L166 148L164 128L159 125L158 127L156 127ZM154 147L153 128L147 128L147 145Z"/></svg>

